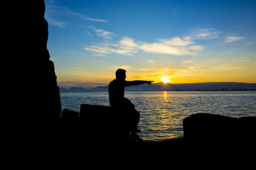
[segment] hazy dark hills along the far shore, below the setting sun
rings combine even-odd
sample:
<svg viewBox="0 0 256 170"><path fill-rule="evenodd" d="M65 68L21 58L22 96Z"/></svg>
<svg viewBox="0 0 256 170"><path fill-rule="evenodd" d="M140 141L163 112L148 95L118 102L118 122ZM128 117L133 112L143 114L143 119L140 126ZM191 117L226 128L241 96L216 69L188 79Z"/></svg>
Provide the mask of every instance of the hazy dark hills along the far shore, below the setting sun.
<svg viewBox="0 0 256 170"><path fill-rule="evenodd" d="M201 82L201 83L152 83L151 85L133 85L125 87L125 91L174 91L174 90L256 90L256 83L244 82ZM108 86L96 88L71 87L60 88L60 91L108 91Z"/></svg>

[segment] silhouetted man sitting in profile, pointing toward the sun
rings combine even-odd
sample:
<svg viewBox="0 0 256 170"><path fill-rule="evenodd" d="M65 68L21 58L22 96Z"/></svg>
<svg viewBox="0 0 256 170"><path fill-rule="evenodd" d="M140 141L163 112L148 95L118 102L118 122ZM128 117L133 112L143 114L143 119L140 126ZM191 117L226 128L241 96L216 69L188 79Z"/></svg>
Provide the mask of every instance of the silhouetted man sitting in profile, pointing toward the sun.
<svg viewBox="0 0 256 170"><path fill-rule="evenodd" d="M142 141L137 132L141 132L138 129L138 124L140 121L140 112L135 109L135 105L127 98L125 98L125 87L131 85L141 85L144 83L148 83L154 81L143 81L143 80L134 80L134 81L126 81L126 71L123 69L116 70L116 79L113 79L108 85L108 95L109 102L111 107L120 111L123 114L128 114L126 121L128 121L129 125L129 133L130 138L133 140Z"/></svg>

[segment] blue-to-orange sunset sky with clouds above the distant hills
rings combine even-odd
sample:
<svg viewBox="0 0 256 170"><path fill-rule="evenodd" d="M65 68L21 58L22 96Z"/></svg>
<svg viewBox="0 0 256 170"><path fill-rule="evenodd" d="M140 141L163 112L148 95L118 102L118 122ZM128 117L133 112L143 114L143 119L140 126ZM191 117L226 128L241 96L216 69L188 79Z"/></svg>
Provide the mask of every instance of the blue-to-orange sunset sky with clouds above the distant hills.
<svg viewBox="0 0 256 170"><path fill-rule="evenodd" d="M59 87L256 83L256 0L45 0Z"/></svg>

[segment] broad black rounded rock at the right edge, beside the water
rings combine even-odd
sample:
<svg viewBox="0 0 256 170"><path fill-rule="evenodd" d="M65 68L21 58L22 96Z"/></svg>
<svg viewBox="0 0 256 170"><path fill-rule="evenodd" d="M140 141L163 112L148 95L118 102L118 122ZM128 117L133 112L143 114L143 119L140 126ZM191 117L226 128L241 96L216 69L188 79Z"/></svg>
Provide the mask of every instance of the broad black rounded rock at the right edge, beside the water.
<svg viewBox="0 0 256 170"><path fill-rule="evenodd" d="M192 144L253 143L256 117L196 113L183 119L184 140Z"/></svg>

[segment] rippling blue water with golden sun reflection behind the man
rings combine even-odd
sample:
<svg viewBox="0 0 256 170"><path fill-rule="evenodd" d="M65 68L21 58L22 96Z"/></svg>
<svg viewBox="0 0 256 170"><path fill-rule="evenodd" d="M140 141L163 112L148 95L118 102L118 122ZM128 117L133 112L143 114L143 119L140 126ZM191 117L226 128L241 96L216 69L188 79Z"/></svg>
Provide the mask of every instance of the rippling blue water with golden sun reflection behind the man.
<svg viewBox="0 0 256 170"><path fill-rule="evenodd" d="M108 91L60 91L61 108L80 111L81 104L109 105ZM195 113L256 116L256 91L125 91L141 113L143 140L183 136L183 119Z"/></svg>

